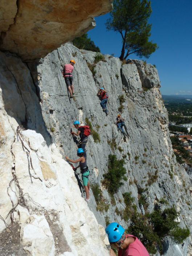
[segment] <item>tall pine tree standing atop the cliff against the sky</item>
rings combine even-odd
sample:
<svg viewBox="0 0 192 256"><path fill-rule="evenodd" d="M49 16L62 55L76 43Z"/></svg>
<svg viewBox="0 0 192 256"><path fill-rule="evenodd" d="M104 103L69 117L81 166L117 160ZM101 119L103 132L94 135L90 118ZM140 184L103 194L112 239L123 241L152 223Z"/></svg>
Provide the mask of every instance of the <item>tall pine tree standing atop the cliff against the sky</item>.
<svg viewBox="0 0 192 256"><path fill-rule="evenodd" d="M151 12L151 2L148 0L113 1L113 11L105 25L108 31L119 32L122 36L120 60L126 60L132 53L149 58L159 48L157 44L148 41L152 24L147 22Z"/></svg>

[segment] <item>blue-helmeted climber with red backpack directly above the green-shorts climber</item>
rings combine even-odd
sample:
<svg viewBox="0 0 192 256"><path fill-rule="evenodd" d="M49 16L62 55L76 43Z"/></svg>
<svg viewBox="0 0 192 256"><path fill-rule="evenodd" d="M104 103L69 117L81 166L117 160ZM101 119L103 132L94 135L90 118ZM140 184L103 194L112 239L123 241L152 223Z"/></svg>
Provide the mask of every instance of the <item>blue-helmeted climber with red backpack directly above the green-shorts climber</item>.
<svg viewBox="0 0 192 256"><path fill-rule="evenodd" d="M75 127L77 129L77 133L74 131L71 131L71 134L76 135L77 137L80 137L80 141L77 141L76 138L74 138L74 141L78 144L78 148L82 148L84 152L84 157L87 159L86 149L85 146L87 144L88 136L90 135L91 131L89 130L88 125L80 126L79 121L75 121L73 123L72 127Z"/></svg>

